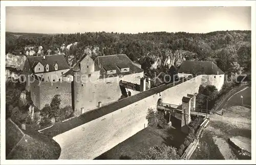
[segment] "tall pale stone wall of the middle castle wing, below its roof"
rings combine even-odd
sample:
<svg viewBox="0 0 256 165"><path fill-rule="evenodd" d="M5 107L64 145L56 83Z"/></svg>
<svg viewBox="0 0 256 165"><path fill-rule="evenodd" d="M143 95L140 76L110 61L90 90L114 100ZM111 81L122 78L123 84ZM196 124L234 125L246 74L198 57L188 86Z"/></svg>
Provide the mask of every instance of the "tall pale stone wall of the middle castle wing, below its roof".
<svg viewBox="0 0 256 165"><path fill-rule="evenodd" d="M77 74L77 77L79 77L79 73ZM120 80L140 84L140 78L143 77L143 72L105 79L97 79L97 76L99 74L96 72L91 73L92 80L85 81L86 83L77 82L76 77L74 77L75 114L80 114L81 108L83 108L82 113L98 108L99 102L103 106L119 100L122 96L119 86ZM131 90L129 89L129 91ZM137 92L131 91L131 93L134 95Z"/></svg>

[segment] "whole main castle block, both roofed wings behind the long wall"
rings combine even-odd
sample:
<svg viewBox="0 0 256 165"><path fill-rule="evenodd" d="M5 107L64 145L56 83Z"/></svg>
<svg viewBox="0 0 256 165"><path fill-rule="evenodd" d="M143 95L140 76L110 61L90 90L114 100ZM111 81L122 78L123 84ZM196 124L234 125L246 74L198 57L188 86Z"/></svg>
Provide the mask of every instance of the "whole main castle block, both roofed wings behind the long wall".
<svg viewBox="0 0 256 165"><path fill-rule="evenodd" d="M28 57L23 71L30 79L27 89L35 107L42 109L58 96L60 107L72 105L75 115L118 101L123 93L140 92L120 86L120 82L139 88L142 84L141 90L146 89L140 65L124 54L99 56L95 61L86 55L72 68L62 55Z"/></svg>

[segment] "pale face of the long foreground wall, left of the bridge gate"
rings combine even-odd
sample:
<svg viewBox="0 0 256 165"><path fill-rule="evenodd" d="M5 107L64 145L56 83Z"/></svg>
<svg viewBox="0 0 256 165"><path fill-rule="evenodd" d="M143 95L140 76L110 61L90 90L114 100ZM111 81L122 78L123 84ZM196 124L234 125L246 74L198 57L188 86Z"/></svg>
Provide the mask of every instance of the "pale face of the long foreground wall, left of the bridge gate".
<svg viewBox="0 0 256 165"><path fill-rule="evenodd" d="M53 137L61 147L59 159L93 159L115 147L147 127L147 109L156 109L159 98L147 97Z"/></svg>

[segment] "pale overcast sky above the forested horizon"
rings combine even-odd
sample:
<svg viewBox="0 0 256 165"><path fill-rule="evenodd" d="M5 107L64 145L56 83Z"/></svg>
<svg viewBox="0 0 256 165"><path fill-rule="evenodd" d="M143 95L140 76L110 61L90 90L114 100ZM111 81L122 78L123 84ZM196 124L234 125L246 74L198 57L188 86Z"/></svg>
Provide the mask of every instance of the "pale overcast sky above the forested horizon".
<svg viewBox="0 0 256 165"><path fill-rule="evenodd" d="M6 31L31 33L251 30L250 7L6 7Z"/></svg>

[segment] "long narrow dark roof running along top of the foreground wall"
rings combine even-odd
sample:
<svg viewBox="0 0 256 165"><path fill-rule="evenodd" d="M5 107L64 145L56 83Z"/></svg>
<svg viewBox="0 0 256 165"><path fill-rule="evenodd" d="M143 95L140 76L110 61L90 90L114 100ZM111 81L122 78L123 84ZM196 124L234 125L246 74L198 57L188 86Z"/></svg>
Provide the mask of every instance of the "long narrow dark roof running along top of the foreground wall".
<svg viewBox="0 0 256 165"><path fill-rule="evenodd" d="M195 77L195 75L192 75L191 77L184 78L183 82L190 80L191 78L194 78L194 77ZM42 130L41 132L50 137L54 137L60 133L69 131L75 127L82 125L82 124L88 123L88 122L95 120L103 115L114 112L120 108L123 108L132 103L138 102L144 98L155 95L156 93L159 93L165 89L168 89L170 87L173 87L173 86L181 84L181 83L182 83L182 80L180 80L179 82L176 82L175 84L174 83L163 84L163 85L157 86L155 88L145 90L143 92L138 93L137 95L133 95L131 97L124 98L124 99L114 102L112 104L105 105L100 108L83 113L80 116L74 117L73 119L71 119L69 121L55 123L52 127Z"/></svg>

